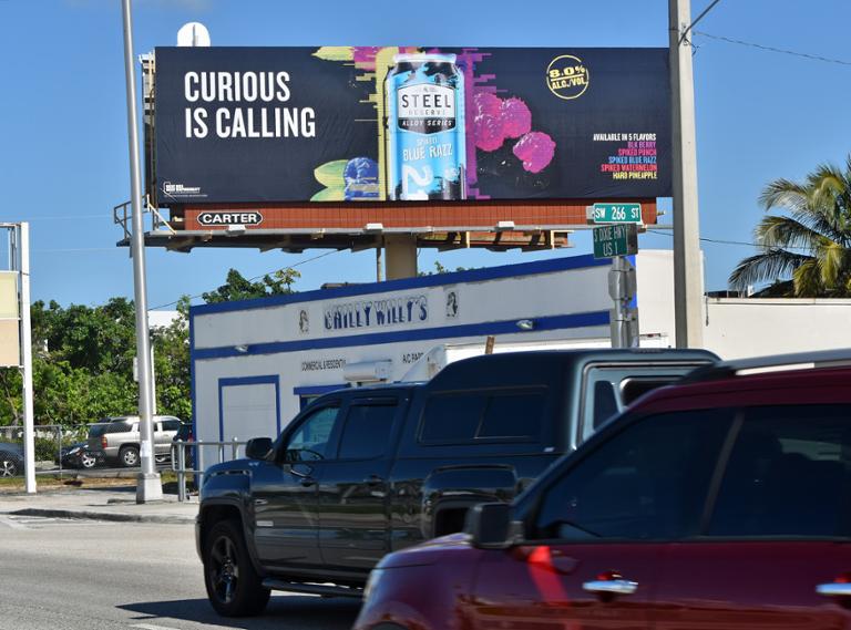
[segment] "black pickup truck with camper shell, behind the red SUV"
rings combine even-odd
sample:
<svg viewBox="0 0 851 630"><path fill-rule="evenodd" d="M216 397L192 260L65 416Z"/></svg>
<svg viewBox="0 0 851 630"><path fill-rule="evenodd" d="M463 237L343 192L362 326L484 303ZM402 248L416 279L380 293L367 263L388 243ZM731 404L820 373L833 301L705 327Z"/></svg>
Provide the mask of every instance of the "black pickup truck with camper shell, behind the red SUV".
<svg viewBox="0 0 851 630"><path fill-rule="evenodd" d="M511 500L633 400L716 359L492 354L428 383L326 394L274 443L206 471L196 541L211 603L242 616L270 589L360 596L385 554L461 530L470 507Z"/></svg>

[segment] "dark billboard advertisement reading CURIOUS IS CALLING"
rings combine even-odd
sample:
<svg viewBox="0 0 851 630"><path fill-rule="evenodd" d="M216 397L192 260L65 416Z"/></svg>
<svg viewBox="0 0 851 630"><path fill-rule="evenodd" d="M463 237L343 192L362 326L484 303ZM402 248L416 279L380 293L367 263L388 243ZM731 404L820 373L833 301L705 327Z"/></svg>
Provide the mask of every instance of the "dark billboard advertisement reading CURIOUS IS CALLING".
<svg viewBox="0 0 851 630"><path fill-rule="evenodd" d="M670 196L667 49L158 48L155 63L161 206Z"/></svg>

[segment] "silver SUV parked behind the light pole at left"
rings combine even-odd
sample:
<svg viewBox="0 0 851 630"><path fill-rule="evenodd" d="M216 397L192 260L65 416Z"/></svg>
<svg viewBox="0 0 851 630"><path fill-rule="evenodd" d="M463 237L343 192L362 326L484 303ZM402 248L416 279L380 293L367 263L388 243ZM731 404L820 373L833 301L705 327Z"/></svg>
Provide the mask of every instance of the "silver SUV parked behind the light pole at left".
<svg viewBox="0 0 851 630"><path fill-rule="evenodd" d="M162 464L168 461L172 438L183 423L173 415L155 415L153 420L154 459ZM103 453L107 462L117 461L127 468L139 466L142 461L139 453L140 440L137 415L106 417L89 427L89 450Z"/></svg>

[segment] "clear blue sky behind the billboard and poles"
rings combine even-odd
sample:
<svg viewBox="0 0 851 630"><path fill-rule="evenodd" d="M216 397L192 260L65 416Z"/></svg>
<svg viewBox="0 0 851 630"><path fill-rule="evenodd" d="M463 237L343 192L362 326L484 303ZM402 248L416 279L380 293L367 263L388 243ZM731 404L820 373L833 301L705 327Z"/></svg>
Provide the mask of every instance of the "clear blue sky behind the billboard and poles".
<svg viewBox="0 0 851 630"><path fill-rule="evenodd" d="M698 14L709 0L693 0ZM457 2L451 20L411 13L414 3L338 0L134 0L136 53L172 45L187 21L214 45L664 47L665 0ZM404 11L401 9L404 8ZM827 63L695 34L695 91L701 236L752 241L757 198L777 177L802 178L851 152L848 0L721 0L699 32L841 60ZM0 0L0 220L31 221L33 299L96 304L132 296L127 250L112 207L129 198L120 0ZM669 223L670 214L663 217ZM420 268L481 267L585 254L423 250ZM645 235L644 248L670 247ZM726 288L752 247L704 242L707 289ZM218 286L229 267L246 277L299 262L301 255L250 249L148 249L148 302ZM371 251L339 252L298 267L296 288L375 279Z"/></svg>

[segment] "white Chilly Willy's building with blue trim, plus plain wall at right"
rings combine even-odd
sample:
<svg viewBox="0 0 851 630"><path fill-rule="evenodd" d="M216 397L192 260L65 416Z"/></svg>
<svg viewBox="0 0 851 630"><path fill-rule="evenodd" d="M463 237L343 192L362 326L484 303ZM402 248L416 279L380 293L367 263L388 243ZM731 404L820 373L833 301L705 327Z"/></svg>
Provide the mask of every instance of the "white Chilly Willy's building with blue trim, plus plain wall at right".
<svg viewBox="0 0 851 630"><path fill-rule="evenodd" d="M634 257L642 345L674 345L673 257ZM310 399L419 380L495 351L609 344L609 261L592 256L194 307L195 435L274 436ZM851 347L851 302L708 299L705 347L724 359ZM407 376L407 378L406 378Z"/></svg>

